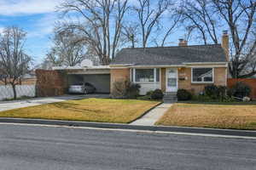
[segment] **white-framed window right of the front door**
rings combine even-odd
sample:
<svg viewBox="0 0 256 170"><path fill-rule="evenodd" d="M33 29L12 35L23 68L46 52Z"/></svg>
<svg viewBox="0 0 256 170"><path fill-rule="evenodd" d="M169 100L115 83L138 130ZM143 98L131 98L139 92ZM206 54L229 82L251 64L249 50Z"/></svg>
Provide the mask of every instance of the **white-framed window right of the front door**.
<svg viewBox="0 0 256 170"><path fill-rule="evenodd" d="M192 82L213 82L213 69L192 68Z"/></svg>

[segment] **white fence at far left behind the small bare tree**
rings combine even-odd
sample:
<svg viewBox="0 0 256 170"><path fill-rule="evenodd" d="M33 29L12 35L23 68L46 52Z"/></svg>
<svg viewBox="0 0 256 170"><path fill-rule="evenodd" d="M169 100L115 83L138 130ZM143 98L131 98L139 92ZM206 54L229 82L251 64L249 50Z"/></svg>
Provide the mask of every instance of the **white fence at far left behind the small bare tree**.
<svg viewBox="0 0 256 170"><path fill-rule="evenodd" d="M35 85L17 85L16 86L17 98L21 96L34 97L36 95ZM13 88L11 86L0 85L0 100L14 98Z"/></svg>

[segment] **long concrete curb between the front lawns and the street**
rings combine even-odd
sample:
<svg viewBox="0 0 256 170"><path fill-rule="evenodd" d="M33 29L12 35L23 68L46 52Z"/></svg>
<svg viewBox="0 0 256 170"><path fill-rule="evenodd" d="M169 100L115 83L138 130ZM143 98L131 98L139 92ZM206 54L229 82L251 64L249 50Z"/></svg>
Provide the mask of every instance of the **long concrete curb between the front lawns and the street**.
<svg viewBox="0 0 256 170"><path fill-rule="evenodd" d="M125 130L143 130L152 132L174 132L174 133L201 133L225 136L241 136L241 137L256 137L256 131L248 130L232 130L218 128L203 128L203 127L163 127L163 126L137 126L119 123L102 123L102 122L75 122L75 121L58 121L45 119L25 119L25 118L0 118L0 122L4 123L26 123L39 125L55 125L55 126L70 126L70 127L96 127L108 129L125 129Z"/></svg>

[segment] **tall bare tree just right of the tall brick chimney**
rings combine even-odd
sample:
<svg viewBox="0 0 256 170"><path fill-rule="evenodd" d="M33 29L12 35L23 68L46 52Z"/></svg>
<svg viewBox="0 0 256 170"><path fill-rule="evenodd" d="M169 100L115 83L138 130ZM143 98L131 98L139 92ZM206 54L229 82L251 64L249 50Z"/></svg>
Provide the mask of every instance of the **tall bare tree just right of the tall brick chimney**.
<svg viewBox="0 0 256 170"><path fill-rule="evenodd" d="M253 0L212 0L214 7L230 28L232 46L230 74L234 78L252 77L255 67L248 70L248 65L255 65L256 38L253 35L255 25L256 2ZM251 38L253 37L253 38Z"/></svg>

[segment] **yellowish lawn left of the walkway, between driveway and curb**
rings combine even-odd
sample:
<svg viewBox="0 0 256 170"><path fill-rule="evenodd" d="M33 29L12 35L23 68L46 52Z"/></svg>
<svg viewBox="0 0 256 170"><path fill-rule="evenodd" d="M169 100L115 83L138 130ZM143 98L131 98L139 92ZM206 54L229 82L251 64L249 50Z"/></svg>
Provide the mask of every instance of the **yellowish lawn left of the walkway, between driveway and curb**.
<svg viewBox="0 0 256 170"><path fill-rule="evenodd" d="M0 112L0 117L129 123L160 102L137 99L80 99Z"/></svg>

